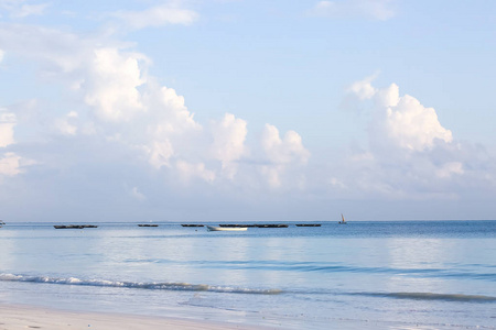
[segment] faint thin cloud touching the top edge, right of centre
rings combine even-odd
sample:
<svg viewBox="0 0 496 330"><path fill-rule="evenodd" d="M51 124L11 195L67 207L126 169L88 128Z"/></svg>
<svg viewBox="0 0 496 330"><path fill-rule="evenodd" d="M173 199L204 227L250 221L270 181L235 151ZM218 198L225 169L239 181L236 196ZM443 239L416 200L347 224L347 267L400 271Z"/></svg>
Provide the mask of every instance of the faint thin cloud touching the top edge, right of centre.
<svg viewBox="0 0 496 330"><path fill-rule="evenodd" d="M386 21L396 15L395 2L395 0L319 1L310 13L333 19L362 16Z"/></svg>

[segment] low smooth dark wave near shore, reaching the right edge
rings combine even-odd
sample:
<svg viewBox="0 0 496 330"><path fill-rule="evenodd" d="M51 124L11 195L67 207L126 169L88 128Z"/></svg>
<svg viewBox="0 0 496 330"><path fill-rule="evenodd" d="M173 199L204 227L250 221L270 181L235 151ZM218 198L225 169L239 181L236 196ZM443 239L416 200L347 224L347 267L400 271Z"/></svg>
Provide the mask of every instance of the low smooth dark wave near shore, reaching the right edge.
<svg viewBox="0 0 496 330"><path fill-rule="evenodd" d="M483 295L462 294L433 294L433 293L352 293L352 296L386 297L396 299L413 300L444 300L444 301L470 301L470 302L495 302L496 297Z"/></svg>

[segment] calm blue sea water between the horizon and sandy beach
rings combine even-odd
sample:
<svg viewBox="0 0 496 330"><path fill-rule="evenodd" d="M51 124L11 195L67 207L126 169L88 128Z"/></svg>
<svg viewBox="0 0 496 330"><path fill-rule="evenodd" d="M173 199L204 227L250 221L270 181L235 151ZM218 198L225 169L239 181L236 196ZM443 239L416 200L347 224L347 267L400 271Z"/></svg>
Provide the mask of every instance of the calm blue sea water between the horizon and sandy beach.
<svg viewBox="0 0 496 330"><path fill-rule="evenodd" d="M282 329L496 329L496 221L285 223L9 223L0 302Z"/></svg>

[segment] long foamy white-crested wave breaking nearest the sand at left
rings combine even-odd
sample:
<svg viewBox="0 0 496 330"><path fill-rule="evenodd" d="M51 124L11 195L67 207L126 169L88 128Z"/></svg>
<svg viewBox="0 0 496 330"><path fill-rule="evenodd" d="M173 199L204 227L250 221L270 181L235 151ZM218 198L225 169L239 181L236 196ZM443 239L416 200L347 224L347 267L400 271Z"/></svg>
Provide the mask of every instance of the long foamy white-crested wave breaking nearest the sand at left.
<svg viewBox="0 0 496 330"><path fill-rule="evenodd" d="M28 276L14 274L0 274L2 282L30 282L30 283L46 283L61 285L80 285L95 287L121 287L121 288L138 288L150 290L182 290L182 292L212 292L212 293L227 293L227 294L251 294L251 295L278 295L280 289L257 289L228 286L213 286L206 284L190 284L190 283L174 283L174 282L120 282L107 279L80 279L76 277L50 277L50 276Z"/></svg>

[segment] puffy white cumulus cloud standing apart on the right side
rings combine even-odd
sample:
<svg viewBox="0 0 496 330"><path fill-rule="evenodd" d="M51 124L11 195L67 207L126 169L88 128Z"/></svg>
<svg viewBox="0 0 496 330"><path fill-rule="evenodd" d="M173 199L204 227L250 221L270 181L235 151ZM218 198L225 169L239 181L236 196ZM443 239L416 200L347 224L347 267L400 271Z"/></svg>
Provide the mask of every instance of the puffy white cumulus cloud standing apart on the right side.
<svg viewBox="0 0 496 330"><path fill-rule="evenodd" d="M373 85L374 76L354 82L348 92L368 102L369 150L352 151L336 165L332 188L389 198L455 198L453 186L476 179L468 168L479 167L487 155L455 142L431 107L401 95L396 84ZM478 164L478 165L477 165ZM341 168L338 168L341 167Z"/></svg>

